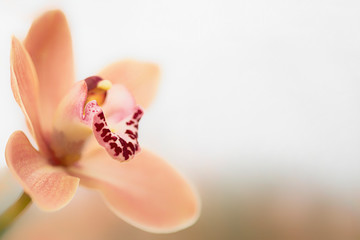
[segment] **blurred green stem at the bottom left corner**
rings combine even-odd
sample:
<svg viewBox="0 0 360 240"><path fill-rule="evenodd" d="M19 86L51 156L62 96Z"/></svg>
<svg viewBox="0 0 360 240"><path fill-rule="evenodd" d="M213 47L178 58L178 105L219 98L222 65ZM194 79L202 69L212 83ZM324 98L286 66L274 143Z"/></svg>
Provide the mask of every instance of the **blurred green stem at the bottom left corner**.
<svg viewBox="0 0 360 240"><path fill-rule="evenodd" d="M20 198L0 215L0 237L30 203L30 196L23 192Z"/></svg>

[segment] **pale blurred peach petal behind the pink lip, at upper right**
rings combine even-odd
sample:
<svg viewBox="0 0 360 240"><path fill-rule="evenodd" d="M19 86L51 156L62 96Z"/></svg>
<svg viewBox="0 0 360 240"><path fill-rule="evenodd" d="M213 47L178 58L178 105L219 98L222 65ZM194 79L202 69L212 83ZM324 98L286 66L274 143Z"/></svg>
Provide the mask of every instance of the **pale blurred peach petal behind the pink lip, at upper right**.
<svg viewBox="0 0 360 240"><path fill-rule="evenodd" d="M113 83L125 85L134 95L137 104L147 108L155 97L160 71L152 63L125 60L113 63L98 75Z"/></svg>

